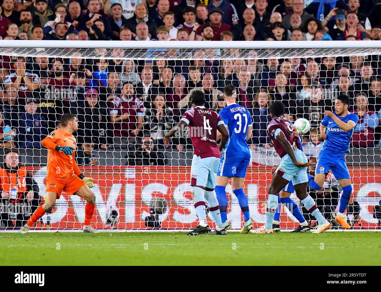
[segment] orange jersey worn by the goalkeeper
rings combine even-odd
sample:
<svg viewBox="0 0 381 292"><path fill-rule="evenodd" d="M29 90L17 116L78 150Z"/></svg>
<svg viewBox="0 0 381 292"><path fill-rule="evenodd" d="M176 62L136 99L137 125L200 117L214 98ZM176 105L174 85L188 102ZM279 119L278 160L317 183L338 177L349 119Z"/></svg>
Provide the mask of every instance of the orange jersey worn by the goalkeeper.
<svg viewBox="0 0 381 292"><path fill-rule="evenodd" d="M69 146L77 149L77 141L72 134L66 133L64 129L51 132L41 141L42 146L48 148L47 177L66 179L81 172L75 162L75 150L72 155L55 150L56 146Z"/></svg>

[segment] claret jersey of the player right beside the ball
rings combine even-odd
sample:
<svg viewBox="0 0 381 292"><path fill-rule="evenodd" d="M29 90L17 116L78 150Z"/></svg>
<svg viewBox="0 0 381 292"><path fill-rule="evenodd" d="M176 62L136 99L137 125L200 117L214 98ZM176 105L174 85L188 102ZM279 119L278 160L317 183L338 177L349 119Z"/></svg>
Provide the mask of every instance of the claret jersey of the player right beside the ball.
<svg viewBox="0 0 381 292"><path fill-rule="evenodd" d="M277 117L272 119L271 122L267 125L267 131L269 132L269 136L274 144L275 151L277 151L279 157L283 157L287 154L285 149L283 149L282 144L278 142L276 139L276 135L282 131L285 135L288 142L290 142L291 146L296 145L297 149L300 149L301 144L298 136L294 136L293 126L291 122L286 119L284 116Z"/></svg>

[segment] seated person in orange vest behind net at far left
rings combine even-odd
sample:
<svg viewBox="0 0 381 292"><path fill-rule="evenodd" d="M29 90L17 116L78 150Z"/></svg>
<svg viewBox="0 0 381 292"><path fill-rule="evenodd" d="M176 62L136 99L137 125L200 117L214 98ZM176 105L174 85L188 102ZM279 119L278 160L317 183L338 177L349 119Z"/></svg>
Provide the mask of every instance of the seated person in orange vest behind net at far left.
<svg viewBox="0 0 381 292"><path fill-rule="evenodd" d="M0 134L1 135L1 134ZM19 152L16 149L5 152L4 164L0 167L0 188L2 190L2 204L21 204L26 207L29 204L28 213L1 212L0 227L20 228L26 224L31 213L33 213L40 202L40 189L32 178L32 174L25 166L19 165ZM5 208L8 209L8 208ZM26 210L28 208L25 208ZM8 209L11 211L12 209ZM13 208L14 211L19 208ZM15 222L13 224L13 222Z"/></svg>

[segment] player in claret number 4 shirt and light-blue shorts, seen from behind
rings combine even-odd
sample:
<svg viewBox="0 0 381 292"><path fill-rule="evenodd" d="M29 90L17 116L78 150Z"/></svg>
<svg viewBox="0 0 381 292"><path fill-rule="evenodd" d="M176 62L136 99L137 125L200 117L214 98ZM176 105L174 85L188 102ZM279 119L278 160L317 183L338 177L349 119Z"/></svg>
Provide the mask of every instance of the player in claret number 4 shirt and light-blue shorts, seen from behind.
<svg viewBox="0 0 381 292"><path fill-rule="evenodd" d="M164 137L163 143L168 147L171 137L176 132L189 127L191 133L194 155L191 167L191 186L194 200L194 208L199 217L199 226L188 233L188 235L199 235L211 231L205 215L205 200L208 202L209 211L216 224L216 230L211 234L225 235L221 222L221 214L216 198L216 173L221 158L221 151L229 139L224 121L215 111L204 106L205 94L195 90L191 96L192 108L188 109L181 117L180 122L173 127ZM217 146L217 129L222 138Z"/></svg>

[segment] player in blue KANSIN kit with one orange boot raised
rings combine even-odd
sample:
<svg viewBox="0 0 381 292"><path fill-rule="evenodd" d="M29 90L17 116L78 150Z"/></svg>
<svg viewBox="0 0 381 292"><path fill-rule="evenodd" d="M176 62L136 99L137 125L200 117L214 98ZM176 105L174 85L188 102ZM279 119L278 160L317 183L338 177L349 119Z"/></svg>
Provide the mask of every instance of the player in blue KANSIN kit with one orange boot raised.
<svg viewBox="0 0 381 292"><path fill-rule="evenodd" d="M315 179L312 183L315 189L322 188L325 177L329 170L335 175L339 184L343 187L343 195L340 198L339 212L335 221L344 228L351 228L344 218L344 212L351 199L352 185L351 176L345 161L345 154L349 152L349 144L354 128L359 121L356 114L348 112L350 99L347 95L339 95L335 101L335 113L325 111L325 117L320 123L320 135L325 138L323 148L319 153Z"/></svg>

